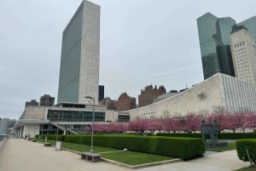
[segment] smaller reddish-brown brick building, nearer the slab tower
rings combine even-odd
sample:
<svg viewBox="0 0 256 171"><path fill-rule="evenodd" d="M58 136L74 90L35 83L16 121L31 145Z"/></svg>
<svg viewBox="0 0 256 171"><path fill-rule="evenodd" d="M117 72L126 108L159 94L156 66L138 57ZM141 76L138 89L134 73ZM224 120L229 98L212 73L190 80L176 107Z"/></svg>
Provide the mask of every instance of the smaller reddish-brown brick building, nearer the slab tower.
<svg viewBox="0 0 256 171"><path fill-rule="evenodd" d="M136 108L136 98L130 97L126 93L120 94L119 100L115 104L116 111L128 111Z"/></svg>

